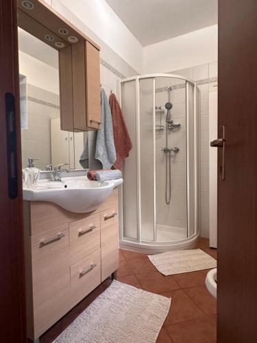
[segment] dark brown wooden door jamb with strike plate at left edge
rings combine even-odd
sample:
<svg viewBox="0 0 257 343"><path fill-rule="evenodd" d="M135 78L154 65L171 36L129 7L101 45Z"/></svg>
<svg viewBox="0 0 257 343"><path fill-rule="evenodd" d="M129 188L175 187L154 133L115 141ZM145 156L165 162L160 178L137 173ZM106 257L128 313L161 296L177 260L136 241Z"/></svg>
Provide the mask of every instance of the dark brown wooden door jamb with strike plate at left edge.
<svg viewBox="0 0 257 343"><path fill-rule="evenodd" d="M0 0L1 342L25 342L25 287L16 0Z"/></svg>

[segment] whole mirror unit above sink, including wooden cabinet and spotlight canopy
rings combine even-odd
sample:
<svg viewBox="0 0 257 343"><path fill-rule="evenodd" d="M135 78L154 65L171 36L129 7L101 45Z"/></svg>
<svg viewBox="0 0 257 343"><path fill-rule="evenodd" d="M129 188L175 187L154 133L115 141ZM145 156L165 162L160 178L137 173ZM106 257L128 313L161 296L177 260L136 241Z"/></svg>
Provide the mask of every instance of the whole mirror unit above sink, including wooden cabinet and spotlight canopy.
<svg viewBox="0 0 257 343"><path fill-rule="evenodd" d="M18 0L23 168L79 157L101 128L99 46L42 0Z"/></svg>

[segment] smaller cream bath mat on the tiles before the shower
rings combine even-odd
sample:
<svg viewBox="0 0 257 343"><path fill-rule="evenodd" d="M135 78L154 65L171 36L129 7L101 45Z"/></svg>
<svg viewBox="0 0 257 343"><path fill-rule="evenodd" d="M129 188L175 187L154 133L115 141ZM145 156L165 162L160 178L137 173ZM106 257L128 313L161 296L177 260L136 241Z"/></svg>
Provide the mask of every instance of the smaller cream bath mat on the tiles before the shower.
<svg viewBox="0 0 257 343"><path fill-rule="evenodd" d="M201 249L169 251L148 257L165 276L217 267L217 261Z"/></svg>

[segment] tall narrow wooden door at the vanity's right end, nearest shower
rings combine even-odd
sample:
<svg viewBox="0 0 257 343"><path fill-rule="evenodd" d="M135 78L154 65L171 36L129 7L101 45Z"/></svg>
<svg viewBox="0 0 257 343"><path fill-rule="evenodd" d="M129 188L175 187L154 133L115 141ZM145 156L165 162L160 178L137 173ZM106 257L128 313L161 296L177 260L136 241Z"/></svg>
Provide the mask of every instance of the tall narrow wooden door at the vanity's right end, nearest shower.
<svg viewBox="0 0 257 343"><path fill-rule="evenodd" d="M119 217L117 207L101 212L101 281L119 268Z"/></svg>

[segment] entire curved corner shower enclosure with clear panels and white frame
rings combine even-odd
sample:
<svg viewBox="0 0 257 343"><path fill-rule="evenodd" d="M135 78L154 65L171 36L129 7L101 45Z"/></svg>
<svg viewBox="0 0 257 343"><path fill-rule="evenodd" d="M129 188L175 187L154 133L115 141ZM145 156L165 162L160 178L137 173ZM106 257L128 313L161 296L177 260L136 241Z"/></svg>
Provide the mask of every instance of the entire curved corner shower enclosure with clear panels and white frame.
<svg viewBox="0 0 257 343"><path fill-rule="evenodd" d="M199 91L179 75L121 80L132 151L123 167L120 245L144 252L193 247L199 235Z"/></svg>

